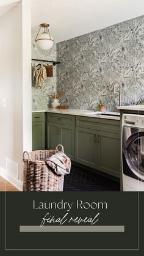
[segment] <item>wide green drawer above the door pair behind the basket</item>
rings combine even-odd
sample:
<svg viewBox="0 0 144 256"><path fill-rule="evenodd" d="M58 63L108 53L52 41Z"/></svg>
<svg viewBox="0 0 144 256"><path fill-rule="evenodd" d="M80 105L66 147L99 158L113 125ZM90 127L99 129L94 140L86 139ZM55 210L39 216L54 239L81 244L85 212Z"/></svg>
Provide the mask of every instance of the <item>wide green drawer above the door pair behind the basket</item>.
<svg viewBox="0 0 144 256"><path fill-rule="evenodd" d="M64 125L75 126L75 116L65 114L47 113L47 122L63 123Z"/></svg>

